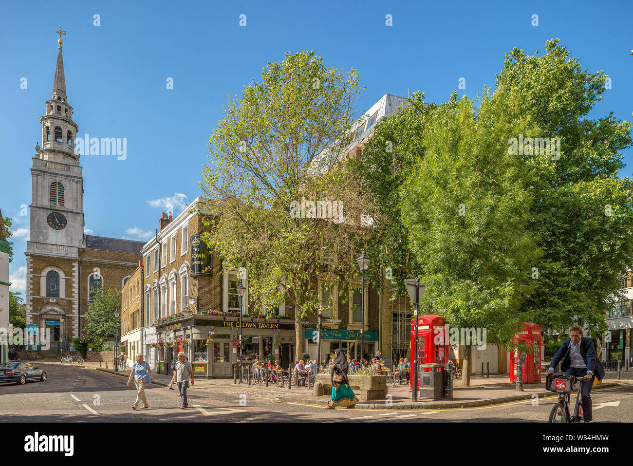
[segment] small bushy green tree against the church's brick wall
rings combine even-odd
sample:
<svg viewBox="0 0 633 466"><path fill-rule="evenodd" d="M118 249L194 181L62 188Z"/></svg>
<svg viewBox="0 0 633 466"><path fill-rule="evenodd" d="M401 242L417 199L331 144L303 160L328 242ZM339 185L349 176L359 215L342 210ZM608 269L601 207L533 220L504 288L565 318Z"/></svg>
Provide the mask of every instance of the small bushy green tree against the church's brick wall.
<svg viewBox="0 0 633 466"><path fill-rule="evenodd" d="M114 289L101 288L97 283L94 288L94 299L88 303L85 313L85 332L94 340L113 339L120 331L120 319L115 318L115 311L121 310L121 292Z"/></svg>

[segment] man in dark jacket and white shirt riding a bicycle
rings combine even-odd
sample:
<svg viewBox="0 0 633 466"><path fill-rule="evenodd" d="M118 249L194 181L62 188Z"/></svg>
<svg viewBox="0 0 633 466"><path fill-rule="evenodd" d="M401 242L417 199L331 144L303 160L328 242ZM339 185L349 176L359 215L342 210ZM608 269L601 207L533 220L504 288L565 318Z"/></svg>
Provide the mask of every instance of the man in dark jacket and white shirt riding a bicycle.
<svg viewBox="0 0 633 466"><path fill-rule="evenodd" d="M591 387L595 377L599 381L605 376L605 369L596 355L594 339L582 336L582 327L574 325L569 329L570 339L565 340L556 351L556 355L549 365L548 374L554 372L554 368L562 360L561 370L565 370L565 375L575 375L582 377L582 413L584 422L592 420L591 416ZM595 371L595 372L594 372ZM594 375L595 374L595 375Z"/></svg>

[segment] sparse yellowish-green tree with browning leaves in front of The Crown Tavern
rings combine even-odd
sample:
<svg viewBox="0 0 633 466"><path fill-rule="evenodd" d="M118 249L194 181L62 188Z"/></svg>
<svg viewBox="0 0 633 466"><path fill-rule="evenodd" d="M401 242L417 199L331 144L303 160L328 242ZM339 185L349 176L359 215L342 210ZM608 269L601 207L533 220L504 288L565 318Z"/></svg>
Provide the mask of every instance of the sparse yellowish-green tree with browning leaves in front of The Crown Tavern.
<svg viewBox="0 0 633 466"><path fill-rule="evenodd" d="M341 163L358 93L353 69L327 68L313 52L286 53L281 63L268 63L261 82L229 100L211 134L202 187L220 217L205 241L225 266L248 270L258 313L284 300L298 319L318 309L315 277L324 272L324 255L330 287L339 281L343 291L358 274L353 258L371 203ZM336 221L301 218L302 199L335 201L342 211L334 211ZM302 329L298 323L297 356Z"/></svg>

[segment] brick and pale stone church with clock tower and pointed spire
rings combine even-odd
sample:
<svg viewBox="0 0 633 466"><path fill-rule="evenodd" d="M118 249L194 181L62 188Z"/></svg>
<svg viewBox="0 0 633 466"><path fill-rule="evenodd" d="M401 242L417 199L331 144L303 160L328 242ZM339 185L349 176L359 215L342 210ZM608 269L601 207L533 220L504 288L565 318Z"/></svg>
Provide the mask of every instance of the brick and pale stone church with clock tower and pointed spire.
<svg viewBox="0 0 633 466"><path fill-rule="evenodd" d="M32 159L31 228L25 253L27 324L50 331L53 341L60 342L51 345L50 358L80 336L97 282L104 289L120 290L141 260L144 246L141 241L84 234L84 176L75 153L78 127L66 95L61 34L58 43L53 96L40 118L42 146L35 146Z"/></svg>

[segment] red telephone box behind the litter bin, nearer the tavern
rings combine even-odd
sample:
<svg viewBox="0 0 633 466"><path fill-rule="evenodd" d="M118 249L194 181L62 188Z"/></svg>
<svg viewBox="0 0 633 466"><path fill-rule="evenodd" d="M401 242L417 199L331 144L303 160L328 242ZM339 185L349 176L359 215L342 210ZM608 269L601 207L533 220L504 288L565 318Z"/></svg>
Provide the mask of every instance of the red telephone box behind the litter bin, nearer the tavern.
<svg viewBox="0 0 633 466"><path fill-rule="evenodd" d="M448 335L444 317L429 314L418 317L418 357L415 358L415 319L411 321L411 377L409 385L413 389L413 364L448 362ZM418 377L418 388L420 378Z"/></svg>

